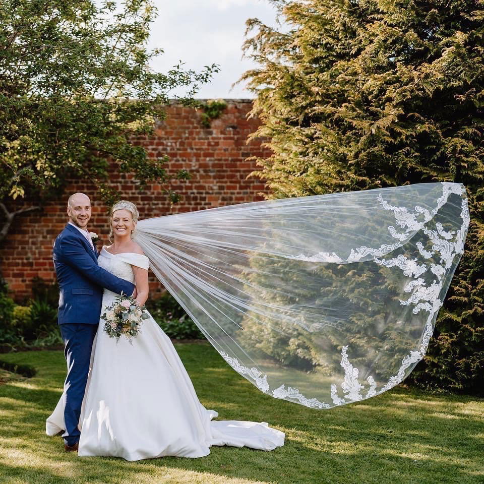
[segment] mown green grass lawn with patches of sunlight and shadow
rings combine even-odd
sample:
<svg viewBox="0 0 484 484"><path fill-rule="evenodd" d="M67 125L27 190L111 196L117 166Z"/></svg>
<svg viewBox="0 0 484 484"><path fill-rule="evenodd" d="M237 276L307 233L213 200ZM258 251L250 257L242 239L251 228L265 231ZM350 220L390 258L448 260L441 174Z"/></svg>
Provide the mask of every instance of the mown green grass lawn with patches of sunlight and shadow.
<svg viewBox="0 0 484 484"><path fill-rule="evenodd" d="M260 393L208 344L176 349L201 402L219 419L266 421L286 433L272 452L211 447L200 459L138 462L77 457L45 435L65 378L62 351L0 355L33 378L0 375L0 482L427 484L484 482L484 399L396 388L360 403L314 410ZM149 398L149 395L146 396Z"/></svg>

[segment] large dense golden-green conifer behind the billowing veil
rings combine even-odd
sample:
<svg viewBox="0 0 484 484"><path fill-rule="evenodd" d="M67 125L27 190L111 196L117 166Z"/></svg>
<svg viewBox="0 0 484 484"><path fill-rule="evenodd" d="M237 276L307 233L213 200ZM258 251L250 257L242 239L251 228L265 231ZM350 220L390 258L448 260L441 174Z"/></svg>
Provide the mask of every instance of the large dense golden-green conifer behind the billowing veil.
<svg viewBox="0 0 484 484"><path fill-rule="evenodd" d="M456 181L468 192L465 254L439 313L425 386L484 386L484 2L270 0L284 30L247 21L239 80L273 154L268 198ZM252 33L252 34L251 34ZM252 36L249 36L252 35Z"/></svg>

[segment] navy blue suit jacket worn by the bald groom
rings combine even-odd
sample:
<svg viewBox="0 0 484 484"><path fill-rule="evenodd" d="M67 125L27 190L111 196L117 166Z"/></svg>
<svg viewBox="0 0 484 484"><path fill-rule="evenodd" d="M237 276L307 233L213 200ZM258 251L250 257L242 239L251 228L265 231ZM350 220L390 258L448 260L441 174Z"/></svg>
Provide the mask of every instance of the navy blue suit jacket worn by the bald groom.
<svg viewBox="0 0 484 484"><path fill-rule="evenodd" d="M103 288L131 295L134 285L97 265L97 252L70 224L54 241L52 259L59 283L58 324L99 324Z"/></svg>

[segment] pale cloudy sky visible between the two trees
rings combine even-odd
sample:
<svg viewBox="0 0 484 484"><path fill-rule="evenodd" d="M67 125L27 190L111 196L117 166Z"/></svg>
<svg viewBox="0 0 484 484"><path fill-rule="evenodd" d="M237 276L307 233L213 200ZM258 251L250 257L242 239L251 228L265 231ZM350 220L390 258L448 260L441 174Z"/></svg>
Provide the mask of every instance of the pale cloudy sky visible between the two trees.
<svg viewBox="0 0 484 484"><path fill-rule="evenodd" d="M219 64L212 81L203 84L197 99L253 98L254 94L233 82L249 69L257 67L250 58L241 58L245 22L256 17L266 25L276 26L276 11L267 0L154 0L158 17L151 27L149 48L158 47L164 54L151 67L168 72L179 61L185 69L200 72L204 66ZM186 91L170 91L181 95Z"/></svg>

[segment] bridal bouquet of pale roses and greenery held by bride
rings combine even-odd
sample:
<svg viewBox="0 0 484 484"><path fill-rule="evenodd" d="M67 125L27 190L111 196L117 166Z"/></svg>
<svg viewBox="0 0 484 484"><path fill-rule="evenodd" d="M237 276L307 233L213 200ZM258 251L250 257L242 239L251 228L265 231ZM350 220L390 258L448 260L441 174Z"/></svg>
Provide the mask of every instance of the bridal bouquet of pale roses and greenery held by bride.
<svg viewBox="0 0 484 484"><path fill-rule="evenodd" d="M130 344L132 338L140 332L141 322L148 319L145 306L139 306L136 299L121 293L110 306L106 306L101 319L104 320L104 331L116 342L125 335Z"/></svg>

